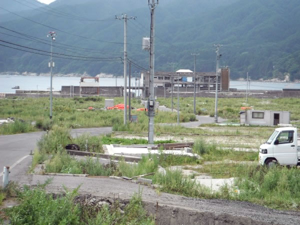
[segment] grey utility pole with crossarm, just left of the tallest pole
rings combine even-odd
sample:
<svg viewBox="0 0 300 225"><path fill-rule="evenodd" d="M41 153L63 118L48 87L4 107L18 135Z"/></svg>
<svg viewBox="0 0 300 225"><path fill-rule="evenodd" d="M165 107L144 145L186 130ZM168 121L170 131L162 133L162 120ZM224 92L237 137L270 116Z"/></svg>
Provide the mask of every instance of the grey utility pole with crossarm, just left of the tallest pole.
<svg viewBox="0 0 300 225"><path fill-rule="evenodd" d="M127 19L135 19L135 17L127 17L126 14L115 16L115 19L124 19L124 124L127 123Z"/></svg>

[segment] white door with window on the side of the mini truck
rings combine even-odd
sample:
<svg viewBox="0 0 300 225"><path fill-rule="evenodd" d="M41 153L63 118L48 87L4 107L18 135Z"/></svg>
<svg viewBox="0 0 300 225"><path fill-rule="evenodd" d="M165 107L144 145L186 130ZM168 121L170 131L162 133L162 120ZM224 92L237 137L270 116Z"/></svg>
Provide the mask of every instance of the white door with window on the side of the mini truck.
<svg viewBox="0 0 300 225"><path fill-rule="evenodd" d="M297 137L293 130L281 131L273 144L273 155L281 165L297 163Z"/></svg>

